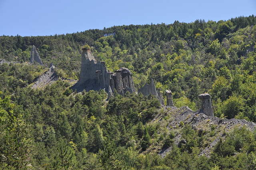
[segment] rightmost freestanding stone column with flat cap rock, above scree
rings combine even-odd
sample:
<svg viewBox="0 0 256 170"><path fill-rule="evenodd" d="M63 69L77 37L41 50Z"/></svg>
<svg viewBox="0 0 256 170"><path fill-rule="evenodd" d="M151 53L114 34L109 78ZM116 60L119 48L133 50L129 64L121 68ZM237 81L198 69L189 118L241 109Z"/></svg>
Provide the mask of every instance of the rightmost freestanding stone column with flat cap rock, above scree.
<svg viewBox="0 0 256 170"><path fill-rule="evenodd" d="M211 96L208 93L204 93L204 94L198 95L198 98L202 100L200 111L202 111L202 113L204 113L206 116L214 117L212 102L210 99Z"/></svg>

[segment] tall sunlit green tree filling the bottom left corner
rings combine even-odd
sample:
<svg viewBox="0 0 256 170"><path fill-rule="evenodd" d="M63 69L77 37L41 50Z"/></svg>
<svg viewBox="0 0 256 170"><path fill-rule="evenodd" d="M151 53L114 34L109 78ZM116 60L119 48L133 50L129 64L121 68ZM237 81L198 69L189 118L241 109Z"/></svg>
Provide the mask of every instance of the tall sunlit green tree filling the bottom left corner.
<svg viewBox="0 0 256 170"><path fill-rule="evenodd" d="M11 103L10 97L0 98L0 169L27 167L32 148L29 134L22 107Z"/></svg>

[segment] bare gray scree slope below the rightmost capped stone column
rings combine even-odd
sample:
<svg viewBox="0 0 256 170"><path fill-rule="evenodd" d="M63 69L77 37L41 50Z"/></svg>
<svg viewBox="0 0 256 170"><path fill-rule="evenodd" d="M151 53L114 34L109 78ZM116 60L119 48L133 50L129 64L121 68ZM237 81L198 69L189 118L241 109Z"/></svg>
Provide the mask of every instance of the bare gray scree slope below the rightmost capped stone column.
<svg viewBox="0 0 256 170"><path fill-rule="evenodd" d="M208 130L210 131L211 126L216 126L216 134L212 138L211 142L202 150L200 155L204 154L207 157L210 156L211 148L217 144L217 142L222 138L222 140L225 140L226 132L229 132L230 130L233 130L236 126L246 126L249 130L254 130L256 124L253 122L247 122L246 120L242 119L220 119L218 117L209 117L204 115L204 113L200 113L198 111L192 111L189 107L183 106L180 108L177 107L164 107L164 110L167 111L167 113L159 113L156 115L156 117L153 119L151 123L157 123L161 122L164 116L170 117L167 129L172 130L179 128L180 122L182 121L184 124L188 123L189 125L192 125L193 128L197 130ZM174 139L174 142L176 145L181 140L181 134L178 134ZM163 148L159 155L164 157L172 147L169 148Z"/></svg>

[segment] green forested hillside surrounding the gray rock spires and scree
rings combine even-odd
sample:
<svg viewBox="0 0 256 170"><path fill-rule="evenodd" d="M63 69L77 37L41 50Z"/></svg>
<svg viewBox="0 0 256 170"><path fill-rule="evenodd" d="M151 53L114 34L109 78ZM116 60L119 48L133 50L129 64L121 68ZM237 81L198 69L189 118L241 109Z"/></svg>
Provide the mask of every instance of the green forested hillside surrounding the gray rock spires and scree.
<svg viewBox="0 0 256 170"><path fill-rule="evenodd" d="M150 123L163 111L152 95L126 93L106 101L105 91L70 89L59 79L32 89L50 63L61 77L78 79L81 47L110 71L126 67L142 87L154 79L174 105L200 109L209 93L214 115L256 123L256 17L228 21L114 26L54 36L0 36L0 168L6 169L255 169L256 132L226 132L210 157L198 154L216 127L189 124L167 129L172 119ZM43 66L29 64L35 45ZM164 97L166 98L166 97ZM214 131L215 130L215 131ZM182 136L181 144L173 138ZM184 142L185 141L185 142ZM172 146L164 158L158 153Z"/></svg>

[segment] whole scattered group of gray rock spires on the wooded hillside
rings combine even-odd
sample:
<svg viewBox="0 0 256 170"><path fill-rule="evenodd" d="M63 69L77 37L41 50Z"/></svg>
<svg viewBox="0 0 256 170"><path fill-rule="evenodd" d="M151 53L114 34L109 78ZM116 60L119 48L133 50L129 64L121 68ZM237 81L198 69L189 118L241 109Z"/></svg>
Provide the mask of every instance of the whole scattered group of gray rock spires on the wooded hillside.
<svg viewBox="0 0 256 170"><path fill-rule="evenodd" d="M36 51L36 47L33 45L30 63L34 63L34 61L42 65L42 61ZM82 64L79 80L72 89L76 89L77 91L83 91L84 89L87 91L99 91L100 89L104 89L108 93L108 97L113 96L114 90L116 90L120 95L124 95L126 91L129 91L130 93L136 92L132 73L129 69L122 67L114 71L114 73L110 72L107 70L104 61L97 62L95 60L90 49L82 49ZM137 91L138 93L142 93L144 96L148 96L150 94L156 96L161 105L164 105L162 94L156 90L153 79L151 79L150 84L146 83L141 88L137 85ZM167 97L166 105L168 107L174 107L172 92L170 90L166 90L165 92ZM199 95L198 98L202 100L200 112L213 117L214 113L210 95L208 93L204 93Z"/></svg>

